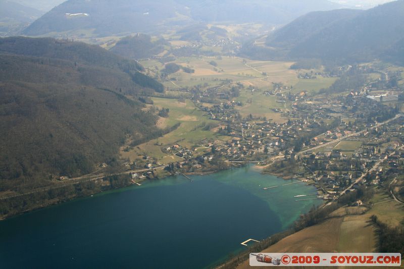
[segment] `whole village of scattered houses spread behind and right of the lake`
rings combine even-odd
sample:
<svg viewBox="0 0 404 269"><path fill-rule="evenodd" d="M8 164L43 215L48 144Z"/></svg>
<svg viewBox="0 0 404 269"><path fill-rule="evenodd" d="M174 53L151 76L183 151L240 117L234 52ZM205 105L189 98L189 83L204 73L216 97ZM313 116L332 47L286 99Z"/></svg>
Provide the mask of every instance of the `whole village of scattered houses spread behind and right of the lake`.
<svg viewBox="0 0 404 269"><path fill-rule="evenodd" d="M292 102L291 110L273 110L288 119L284 123L253 115L243 118L236 109L243 104L234 100L221 99L205 106L201 100L211 97L212 90L201 93L193 101L218 122L215 131L231 139L203 139L193 148L164 145L163 152L182 159L165 170L171 174L206 173L256 163L264 173L314 184L317 198L333 200L363 184L382 184L402 165L404 118L395 107L369 98L372 85L332 98L288 90L274 85L261 93ZM214 92L216 97L222 95L218 89ZM148 156L143 159L138 167L153 171L162 166ZM132 174L133 180L152 176L150 171Z"/></svg>

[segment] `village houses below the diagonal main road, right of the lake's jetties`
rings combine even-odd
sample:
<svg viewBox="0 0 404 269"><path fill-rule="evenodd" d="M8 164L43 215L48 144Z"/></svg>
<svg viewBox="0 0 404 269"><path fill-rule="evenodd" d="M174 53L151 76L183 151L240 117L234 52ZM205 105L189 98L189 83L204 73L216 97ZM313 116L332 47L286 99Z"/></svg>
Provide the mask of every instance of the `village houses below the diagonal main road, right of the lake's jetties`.
<svg viewBox="0 0 404 269"><path fill-rule="evenodd" d="M364 184L382 184L404 164L403 124L401 117L361 134L353 140L361 143L359 147L326 147L306 152L300 161L312 175L305 178L318 185L325 194L324 199L333 199L352 183L355 184L346 192L356 191Z"/></svg>

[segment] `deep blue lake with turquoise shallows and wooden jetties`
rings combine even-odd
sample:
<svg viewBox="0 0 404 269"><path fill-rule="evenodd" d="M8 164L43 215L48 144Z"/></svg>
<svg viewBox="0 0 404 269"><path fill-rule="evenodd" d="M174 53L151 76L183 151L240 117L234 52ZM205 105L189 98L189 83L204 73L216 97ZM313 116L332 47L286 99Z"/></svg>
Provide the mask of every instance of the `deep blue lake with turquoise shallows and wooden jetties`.
<svg viewBox="0 0 404 269"><path fill-rule="evenodd" d="M202 268L290 226L316 188L252 166L143 182L0 222L0 268ZM279 186L263 190L264 187ZM315 197L315 196L313 196Z"/></svg>

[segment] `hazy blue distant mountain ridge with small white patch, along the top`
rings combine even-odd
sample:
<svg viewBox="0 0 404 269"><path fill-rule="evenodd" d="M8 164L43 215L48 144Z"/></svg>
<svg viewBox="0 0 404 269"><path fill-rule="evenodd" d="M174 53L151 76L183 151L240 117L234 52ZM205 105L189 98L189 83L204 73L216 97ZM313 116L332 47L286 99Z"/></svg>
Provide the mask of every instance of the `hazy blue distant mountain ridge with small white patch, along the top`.
<svg viewBox="0 0 404 269"><path fill-rule="evenodd" d="M279 24L289 22L306 12L339 7L327 0L308 0L305 3L299 0L254 0L248 5L230 0L220 3L211 0L164 0L159 3L150 0L119 0L113 6L106 0L69 0L28 26L24 34L37 36L79 29L97 36L138 32L149 34L167 27L200 21Z"/></svg>

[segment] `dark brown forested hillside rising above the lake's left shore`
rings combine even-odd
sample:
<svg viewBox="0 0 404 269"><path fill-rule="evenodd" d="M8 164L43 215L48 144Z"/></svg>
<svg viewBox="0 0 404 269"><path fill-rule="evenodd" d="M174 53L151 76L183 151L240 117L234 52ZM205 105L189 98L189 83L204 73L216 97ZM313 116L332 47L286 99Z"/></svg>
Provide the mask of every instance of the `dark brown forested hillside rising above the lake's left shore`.
<svg viewBox="0 0 404 269"><path fill-rule="evenodd" d="M83 43L0 39L2 190L89 173L128 137L159 136L157 116L136 100L154 91L140 85L162 85L141 69Z"/></svg>

